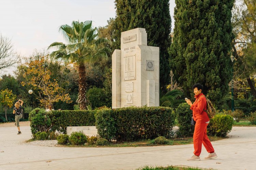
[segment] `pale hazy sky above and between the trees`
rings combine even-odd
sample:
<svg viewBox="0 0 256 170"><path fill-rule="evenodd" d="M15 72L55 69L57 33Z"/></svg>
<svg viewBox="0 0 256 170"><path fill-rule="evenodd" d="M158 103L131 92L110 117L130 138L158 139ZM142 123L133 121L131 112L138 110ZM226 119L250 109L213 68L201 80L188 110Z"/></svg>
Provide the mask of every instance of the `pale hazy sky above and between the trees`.
<svg viewBox="0 0 256 170"><path fill-rule="evenodd" d="M175 0L170 0L172 30ZM92 20L94 27L105 26L115 17L114 0L0 0L0 33L11 39L14 49L30 56L53 42L63 42L58 32L73 20ZM2 74L13 74L15 66Z"/></svg>

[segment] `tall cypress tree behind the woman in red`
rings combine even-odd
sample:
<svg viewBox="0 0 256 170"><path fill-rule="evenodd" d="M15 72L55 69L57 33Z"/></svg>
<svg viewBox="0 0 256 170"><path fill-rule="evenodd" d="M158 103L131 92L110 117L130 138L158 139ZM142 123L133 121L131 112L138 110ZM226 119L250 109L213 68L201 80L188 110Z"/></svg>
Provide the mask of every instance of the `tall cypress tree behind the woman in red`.
<svg viewBox="0 0 256 170"><path fill-rule="evenodd" d="M231 72L231 10L234 0L175 0L169 53L175 79L186 95L195 83L213 101L228 93Z"/></svg>

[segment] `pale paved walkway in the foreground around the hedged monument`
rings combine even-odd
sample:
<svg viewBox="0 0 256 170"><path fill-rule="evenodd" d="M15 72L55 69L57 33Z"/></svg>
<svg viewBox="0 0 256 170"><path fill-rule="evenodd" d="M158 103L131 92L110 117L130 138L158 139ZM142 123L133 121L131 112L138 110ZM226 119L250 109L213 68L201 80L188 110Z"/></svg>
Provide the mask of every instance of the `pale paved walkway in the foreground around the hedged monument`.
<svg viewBox="0 0 256 170"><path fill-rule="evenodd" d="M0 125L0 169L137 169L182 165L210 169L256 169L256 127L233 127L228 139L212 142L216 159L189 162L193 145L130 148L62 148L24 144L30 127ZM3 152L2 152L3 151ZM207 156L202 149L201 158Z"/></svg>

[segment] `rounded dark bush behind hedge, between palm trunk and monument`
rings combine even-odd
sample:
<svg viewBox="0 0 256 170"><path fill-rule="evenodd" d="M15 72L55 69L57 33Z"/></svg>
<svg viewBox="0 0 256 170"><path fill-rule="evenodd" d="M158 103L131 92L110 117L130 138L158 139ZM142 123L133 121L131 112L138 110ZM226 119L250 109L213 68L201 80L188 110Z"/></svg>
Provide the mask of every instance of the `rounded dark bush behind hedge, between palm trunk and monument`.
<svg viewBox="0 0 256 170"><path fill-rule="evenodd" d="M111 107L112 99L106 96L104 89L93 87L87 91L86 94L92 108L108 106Z"/></svg>

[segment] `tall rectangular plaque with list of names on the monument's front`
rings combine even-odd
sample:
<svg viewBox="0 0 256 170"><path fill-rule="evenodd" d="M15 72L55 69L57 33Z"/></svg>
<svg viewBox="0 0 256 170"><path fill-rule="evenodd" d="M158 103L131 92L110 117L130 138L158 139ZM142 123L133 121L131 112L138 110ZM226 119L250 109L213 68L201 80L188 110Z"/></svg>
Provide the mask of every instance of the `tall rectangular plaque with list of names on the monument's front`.
<svg viewBox="0 0 256 170"><path fill-rule="evenodd" d="M136 79L136 58L134 55L128 55L124 57L124 81Z"/></svg>

